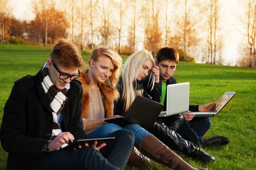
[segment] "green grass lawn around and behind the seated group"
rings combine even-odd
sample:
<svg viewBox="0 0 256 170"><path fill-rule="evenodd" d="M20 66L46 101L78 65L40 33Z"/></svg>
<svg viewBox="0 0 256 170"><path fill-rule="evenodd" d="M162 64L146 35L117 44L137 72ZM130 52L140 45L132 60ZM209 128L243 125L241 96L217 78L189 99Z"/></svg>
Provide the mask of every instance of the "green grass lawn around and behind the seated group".
<svg viewBox="0 0 256 170"><path fill-rule="evenodd" d="M0 124L13 83L27 74L37 74L50 50L44 46L0 44ZM87 62L90 51L82 54ZM226 146L203 149L216 161L202 164L179 155L189 164L209 170L256 170L256 69L179 62L174 77L178 83L190 82L190 105L215 102L226 91L236 92L221 113L211 118L212 126L204 136L230 139ZM6 169L7 155L0 147L0 170ZM148 169L167 168L154 164Z"/></svg>

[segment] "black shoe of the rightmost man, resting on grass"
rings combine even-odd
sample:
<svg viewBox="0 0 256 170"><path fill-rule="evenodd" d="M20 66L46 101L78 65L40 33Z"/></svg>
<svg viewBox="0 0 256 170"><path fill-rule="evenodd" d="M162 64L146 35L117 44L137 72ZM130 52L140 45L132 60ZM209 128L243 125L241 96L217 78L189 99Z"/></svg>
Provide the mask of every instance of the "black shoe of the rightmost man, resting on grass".
<svg viewBox="0 0 256 170"><path fill-rule="evenodd" d="M203 144L201 146L209 147L209 146L222 146L229 143L229 139L224 136L212 136L209 139L204 139Z"/></svg>

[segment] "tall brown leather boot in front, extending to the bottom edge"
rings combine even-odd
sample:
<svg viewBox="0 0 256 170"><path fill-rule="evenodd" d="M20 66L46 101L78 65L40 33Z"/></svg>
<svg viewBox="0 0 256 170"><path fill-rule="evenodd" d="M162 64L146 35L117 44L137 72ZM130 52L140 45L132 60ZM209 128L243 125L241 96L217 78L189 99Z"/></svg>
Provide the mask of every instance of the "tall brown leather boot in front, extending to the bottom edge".
<svg viewBox="0 0 256 170"><path fill-rule="evenodd" d="M145 136L140 141L141 151L154 161L174 170L198 170L184 161L153 135ZM206 168L200 170L207 170Z"/></svg>

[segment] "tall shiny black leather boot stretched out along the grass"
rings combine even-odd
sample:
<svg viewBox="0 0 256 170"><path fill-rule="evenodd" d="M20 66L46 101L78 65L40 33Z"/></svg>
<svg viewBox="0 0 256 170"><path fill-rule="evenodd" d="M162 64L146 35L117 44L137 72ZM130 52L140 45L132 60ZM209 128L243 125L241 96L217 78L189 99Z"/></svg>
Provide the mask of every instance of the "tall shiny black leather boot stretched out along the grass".
<svg viewBox="0 0 256 170"><path fill-rule="evenodd" d="M178 133L170 130L163 122L155 121L154 127L150 128L149 132L171 149L182 152L192 159L197 159L204 163L215 161L213 156L208 155L203 150L196 148L191 142L181 138Z"/></svg>

